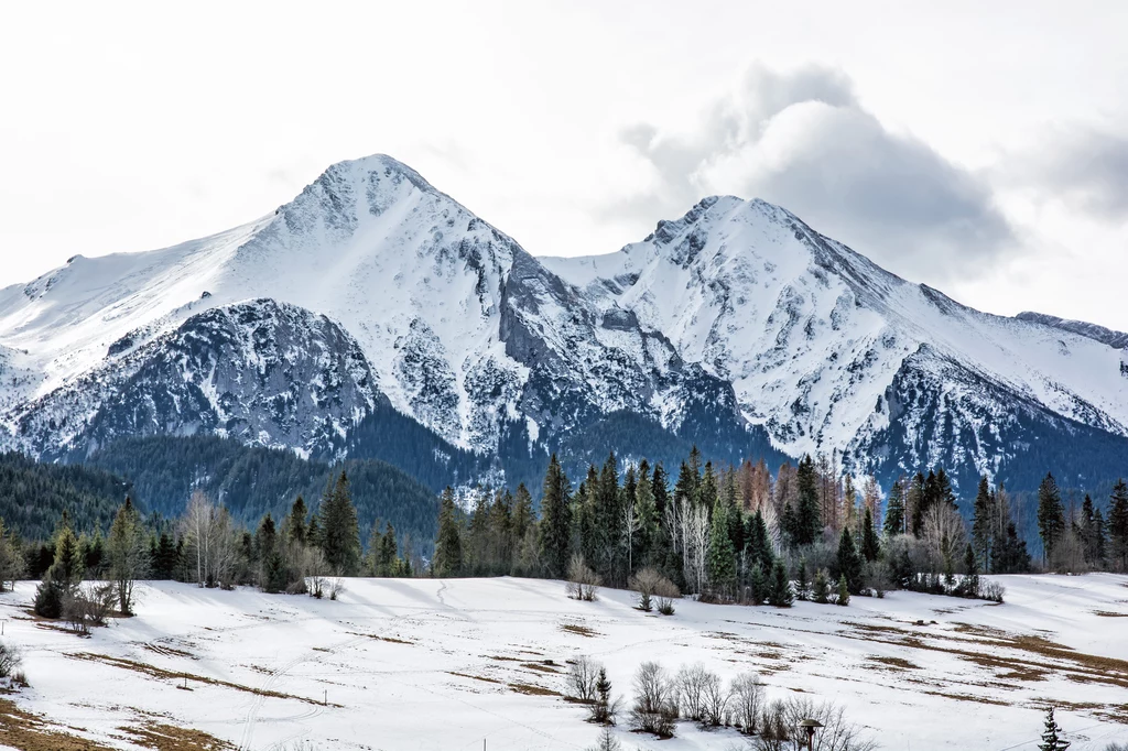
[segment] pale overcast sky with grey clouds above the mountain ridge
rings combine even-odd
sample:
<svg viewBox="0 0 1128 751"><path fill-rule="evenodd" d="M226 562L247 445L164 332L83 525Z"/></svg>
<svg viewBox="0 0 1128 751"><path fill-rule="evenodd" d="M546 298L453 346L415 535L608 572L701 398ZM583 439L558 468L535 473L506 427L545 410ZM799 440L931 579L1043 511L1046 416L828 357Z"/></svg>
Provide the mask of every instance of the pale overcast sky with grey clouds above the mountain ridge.
<svg viewBox="0 0 1128 751"><path fill-rule="evenodd" d="M384 152L536 255L717 193L980 309L1128 329L1128 3L0 7L0 284Z"/></svg>

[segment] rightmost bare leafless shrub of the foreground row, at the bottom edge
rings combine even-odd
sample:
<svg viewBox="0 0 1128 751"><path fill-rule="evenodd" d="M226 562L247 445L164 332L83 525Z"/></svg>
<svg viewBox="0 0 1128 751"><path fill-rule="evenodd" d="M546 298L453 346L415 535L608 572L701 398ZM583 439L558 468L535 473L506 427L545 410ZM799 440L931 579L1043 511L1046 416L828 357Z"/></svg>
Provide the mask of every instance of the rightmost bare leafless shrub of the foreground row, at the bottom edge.
<svg viewBox="0 0 1128 751"><path fill-rule="evenodd" d="M829 701L816 703L803 697L775 700L764 710L760 734L752 742L757 751L791 751L801 740L799 723L816 719L822 728L814 736L816 751L872 751L876 743L862 728L846 719L846 710Z"/></svg>

